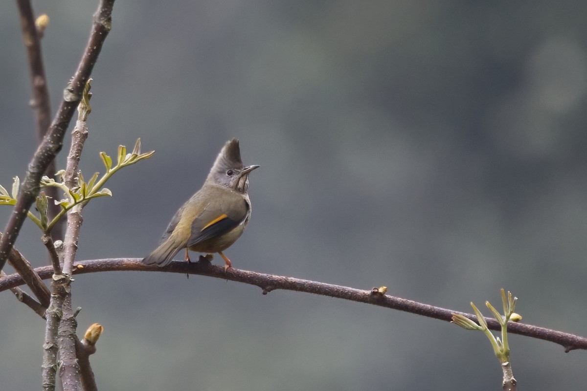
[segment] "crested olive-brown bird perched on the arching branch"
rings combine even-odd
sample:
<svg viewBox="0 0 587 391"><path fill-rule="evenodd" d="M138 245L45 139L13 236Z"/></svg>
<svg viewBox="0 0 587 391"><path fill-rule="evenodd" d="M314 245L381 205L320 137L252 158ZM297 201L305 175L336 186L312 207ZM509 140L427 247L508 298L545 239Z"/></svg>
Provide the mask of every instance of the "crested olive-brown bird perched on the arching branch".
<svg viewBox="0 0 587 391"><path fill-rule="evenodd" d="M236 242L251 217L249 174L258 165L245 167L238 140L228 140L216 158L202 188L173 216L161 244L143 259L146 265L167 266L181 249L218 253L225 268L232 267L222 251Z"/></svg>

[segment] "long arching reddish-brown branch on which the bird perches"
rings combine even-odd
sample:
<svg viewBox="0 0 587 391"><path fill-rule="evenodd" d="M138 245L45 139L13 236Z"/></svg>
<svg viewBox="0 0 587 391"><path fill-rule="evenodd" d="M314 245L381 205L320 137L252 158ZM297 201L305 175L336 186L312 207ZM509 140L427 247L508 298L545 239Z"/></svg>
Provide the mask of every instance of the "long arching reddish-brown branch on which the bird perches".
<svg viewBox="0 0 587 391"><path fill-rule="evenodd" d="M392 308L410 312L411 314L423 315L429 318L440 319L450 322L454 313L463 314L465 317L477 320L473 314L466 314L460 311L447 310L446 308L434 307L433 305L423 304L416 301L406 300L390 295L376 293L373 290L358 290L355 288L342 287L319 283L310 280L300 280L298 278L273 276L271 274L256 273L254 271L238 270L229 268L226 271L224 267L213 266L204 261L196 263L172 262L169 266L159 268L157 266L145 266L140 259L99 259L91 261L76 262L73 268L73 274L96 273L98 271L159 271L164 273L179 274L198 274L201 276L221 278L222 280L237 281L240 283L257 285L262 288L263 293L269 293L275 289L284 289L298 292L315 293L330 297L338 297L345 300L364 302L366 304L379 305L380 307ZM52 274L52 268L49 266L38 267L35 271L41 278L49 278ZM23 281L18 274L0 278L0 291L22 285ZM500 324L493 318L485 318L488 328L500 331ZM525 335L532 338L544 339L545 341L554 342L562 345L566 352L574 349L587 349L587 338L582 336L568 334L561 331L551 330L543 327L537 327L523 323L508 323L508 332L512 334Z"/></svg>

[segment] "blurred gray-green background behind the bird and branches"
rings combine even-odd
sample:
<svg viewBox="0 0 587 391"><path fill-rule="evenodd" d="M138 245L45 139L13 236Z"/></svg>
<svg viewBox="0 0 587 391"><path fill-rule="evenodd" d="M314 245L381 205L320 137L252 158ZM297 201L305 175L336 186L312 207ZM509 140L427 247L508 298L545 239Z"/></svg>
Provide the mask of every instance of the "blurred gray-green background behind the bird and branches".
<svg viewBox="0 0 587 391"><path fill-rule="evenodd" d="M97 1L33 6L50 18L55 111ZM37 140L18 12L0 9L10 188ZM226 251L235 267L467 312L501 307L504 287L524 322L585 336L586 13L579 1L119 1L80 167L103 172L99 152L138 137L156 154L85 209L78 259L150 253L237 137L261 169L251 223ZM47 263L40 237L26 222L16 243L34 266ZM178 274L86 274L73 289L80 335L105 328L101 390L501 387L485 336L417 315ZM39 389L45 324L9 292L0 306L2 389ZM510 342L524 389L585 387L585 352Z"/></svg>

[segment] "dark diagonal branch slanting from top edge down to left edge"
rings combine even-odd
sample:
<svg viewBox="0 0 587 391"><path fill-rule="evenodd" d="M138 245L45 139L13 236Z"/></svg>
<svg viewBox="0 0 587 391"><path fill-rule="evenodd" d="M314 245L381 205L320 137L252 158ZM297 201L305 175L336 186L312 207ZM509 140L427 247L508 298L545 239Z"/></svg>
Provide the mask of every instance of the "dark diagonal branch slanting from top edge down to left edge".
<svg viewBox="0 0 587 391"><path fill-rule="evenodd" d="M25 180L21 185L18 201L6 225L5 235L0 240L0 270L4 268L6 258L16 242L26 214L39 194L39 182L41 182L43 173L62 148L65 131L82 97L83 87L86 86L87 79L89 79L100 50L102 50L104 40L110 32L113 5L114 0L100 1L98 11L94 14L92 33L90 34L90 40L87 43L82 60L77 67L73 80L70 81L63 93L63 100L55 118L53 118L53 123L49 127L48 134L43 139L42 144L39 145L31 164L29 164ZM23 265L17 265L15 268L21 273L22 268L25 267Z"/></svg>

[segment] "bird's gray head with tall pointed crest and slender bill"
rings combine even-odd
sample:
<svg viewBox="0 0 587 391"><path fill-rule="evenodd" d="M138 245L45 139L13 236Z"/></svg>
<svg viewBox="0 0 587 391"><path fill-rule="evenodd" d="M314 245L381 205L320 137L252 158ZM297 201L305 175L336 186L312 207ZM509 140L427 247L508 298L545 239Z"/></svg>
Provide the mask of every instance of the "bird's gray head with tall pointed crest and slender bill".
<svg viewBox="0 0 587 391"><path fill-rule="evenodd" d="M246 193L249 189L249 172L256 168L259 168L259 166L245 167L242 164L238 140L232 138L222 147L206 182L216 183L239 193Z"/></svg>

